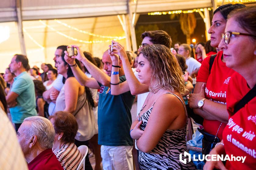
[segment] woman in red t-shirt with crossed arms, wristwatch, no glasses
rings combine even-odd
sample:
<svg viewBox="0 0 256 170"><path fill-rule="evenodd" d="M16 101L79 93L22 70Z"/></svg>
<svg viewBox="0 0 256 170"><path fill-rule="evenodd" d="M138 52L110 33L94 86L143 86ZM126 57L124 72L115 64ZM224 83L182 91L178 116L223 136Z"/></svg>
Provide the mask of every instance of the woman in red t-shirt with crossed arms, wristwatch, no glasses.
<svg viewBox="0 0 256 170"><path fill-rule="evenodd" d="M227 15L233 9L244 8L242 4L222 5L214 11L211 34L211 46L218 47L221 34L224 33ZM226 90L229 79L234 71L226 66L222 51L217 53L209 71L210 57L206 57L198 72L194 94L190 94L189 105L194 112L204 118L204 131L216 135L222 140L222 132L228 122L226 110Z"/></svg>

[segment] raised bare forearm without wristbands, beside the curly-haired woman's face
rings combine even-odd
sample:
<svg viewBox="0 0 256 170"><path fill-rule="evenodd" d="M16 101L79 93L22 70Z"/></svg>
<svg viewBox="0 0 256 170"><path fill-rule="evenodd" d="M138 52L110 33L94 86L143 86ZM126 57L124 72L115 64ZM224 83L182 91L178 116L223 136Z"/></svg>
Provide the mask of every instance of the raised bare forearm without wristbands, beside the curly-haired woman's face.
<svg viewBox="0 0 256 170"><path fill-rule="evenodd" d="M128 57L126 55L126 52L124 50L124 47L118 42L115 42L115 41L112 41L112 42L114 43L113 44L114 50L113 52L110 53L110 55L118 54L120 56L120 59L122 60L122 66L124 69L125 77L129 85L131 94L137 95L137 94L148 92L148 86L146 84L140 83L135 77L133 70L131 68L131 65L129 63ZM123 89L127 90L126 87L123 87Z"/></svg>

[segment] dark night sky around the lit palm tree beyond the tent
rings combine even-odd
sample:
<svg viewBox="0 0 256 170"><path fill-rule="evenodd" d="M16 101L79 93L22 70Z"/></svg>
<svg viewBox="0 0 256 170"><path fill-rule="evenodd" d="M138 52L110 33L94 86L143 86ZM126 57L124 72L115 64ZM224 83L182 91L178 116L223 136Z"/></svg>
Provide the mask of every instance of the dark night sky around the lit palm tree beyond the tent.
<svg viewBox="0 0 256 170"><path fill-rule="evenodd" d="M194 12L197 19L197 25L194 33L191 35L191 40L195 38L197 42L205 42L205 24L198 12ZM212 11L210 11L210 22L212 21ZM171 20L170 15L140 15L137 21L135 32L137 38L137 44L141 44L140 34L144 31L149 31L148 29L158 29L168 32L172 37L172 46L176 41L181 43L186 43L186 36L180 29L179 19L176 17Z"/></svg>

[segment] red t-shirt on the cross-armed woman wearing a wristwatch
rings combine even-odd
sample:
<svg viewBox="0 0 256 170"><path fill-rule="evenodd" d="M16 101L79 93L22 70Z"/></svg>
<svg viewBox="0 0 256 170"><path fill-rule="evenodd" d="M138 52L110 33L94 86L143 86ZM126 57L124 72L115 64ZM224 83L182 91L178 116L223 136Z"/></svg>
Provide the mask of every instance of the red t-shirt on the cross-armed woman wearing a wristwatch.
<svg viewBox="0 0 256 170"><path fill-rule="evenodd" d="M197 75L197 82L206 82L205 88L205 98L216 103L226 104L226 90L229 83L229 79L231 75L235 72L234 70L228 68L226 63L221 60L222 51L217 53L215 60L212 65L211 74L209 72L210 66L210 56L206 57L200 70L198 71ZM208 132L209 134L216 135L218 128L220 126L220 121L211 121L204 119L203 127L204 131ZM222 132L225 128L226 124L222 123L219 132L217 134L220 140L222 139Z"/></svg>

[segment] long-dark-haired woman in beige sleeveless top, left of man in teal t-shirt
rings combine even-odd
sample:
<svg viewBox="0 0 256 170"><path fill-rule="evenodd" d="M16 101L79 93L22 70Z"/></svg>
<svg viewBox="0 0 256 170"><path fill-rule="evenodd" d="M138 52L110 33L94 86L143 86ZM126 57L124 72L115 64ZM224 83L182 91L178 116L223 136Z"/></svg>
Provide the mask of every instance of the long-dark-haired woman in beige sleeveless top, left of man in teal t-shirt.
<svg viewBox="0 0 256 170"><path fill-rule="evenodd" d="M64 86L56 99L55 111L67 111L75 116L78 123L75 144L77 147L80 145L88 146L88 140L97 133L94 128L95 119L92 111L94 100L89 88L78 83L71 70L71 66L65 61L64 56L65 54L56 58L58 74L61 74L65 80L63 82ZM78 60L76 60L74 66L81 68ZM85 169L92 170L88 155L86 156L85 163Z"/></svg>

